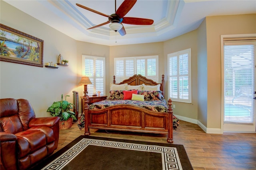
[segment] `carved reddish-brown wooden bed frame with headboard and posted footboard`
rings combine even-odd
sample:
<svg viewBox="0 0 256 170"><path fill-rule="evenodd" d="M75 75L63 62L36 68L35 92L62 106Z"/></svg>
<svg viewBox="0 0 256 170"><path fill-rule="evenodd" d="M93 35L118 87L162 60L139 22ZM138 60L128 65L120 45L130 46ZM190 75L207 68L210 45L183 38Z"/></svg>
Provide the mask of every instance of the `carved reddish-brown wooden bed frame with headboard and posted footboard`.
<svg viewBox="0 0 256 170"><path fill-rule="evenodd" d="M134 75L119 84L127 83L132 86L145 84L155 86L160 84L164 93L164 75L162 83L154 82L144 76ZM113 84L116 84L115 76ZM167 112L153 112L146 108L129 104L118 104L104 109L92 110L88 106L88 98L84 97L84 135L90 135L90 128L104 130L122 130L131 132L147 132L168 134L167 142L173 143L172 100L168 100Z"/></svg>

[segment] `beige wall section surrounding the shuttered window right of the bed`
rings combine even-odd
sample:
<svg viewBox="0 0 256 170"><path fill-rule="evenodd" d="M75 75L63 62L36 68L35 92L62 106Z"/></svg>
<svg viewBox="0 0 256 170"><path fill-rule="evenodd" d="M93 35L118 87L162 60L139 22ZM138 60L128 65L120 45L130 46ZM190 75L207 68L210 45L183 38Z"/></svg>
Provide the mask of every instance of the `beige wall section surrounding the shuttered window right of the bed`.
<svg viewBox="0 0 256 170"><path fill-rule="evenodd" d="M164 73L167 76L167 55L173 52L191 48L191 82L192 82L192 103L173 102L175 108L173 112L176 115L186 118L197 119L197 30L183 34L171 40L164 42ZM167 77L166 77L167 81ZM166 84L166 92L168 92ZM168 96L165 96L168 98Z"/></svg>

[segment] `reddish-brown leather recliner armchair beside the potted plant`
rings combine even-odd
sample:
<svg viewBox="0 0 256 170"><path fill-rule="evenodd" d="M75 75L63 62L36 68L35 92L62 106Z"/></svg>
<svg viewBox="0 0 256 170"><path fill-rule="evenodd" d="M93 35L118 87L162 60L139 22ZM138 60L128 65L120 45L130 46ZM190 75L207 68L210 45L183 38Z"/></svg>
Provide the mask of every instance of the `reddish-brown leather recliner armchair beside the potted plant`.
<svg viewBox="0 0 256 170"><path fill-rule="evenodd" d="M59 117L36 118L25 99L0 99L0 169L26 170L58 147Z"/></svg>

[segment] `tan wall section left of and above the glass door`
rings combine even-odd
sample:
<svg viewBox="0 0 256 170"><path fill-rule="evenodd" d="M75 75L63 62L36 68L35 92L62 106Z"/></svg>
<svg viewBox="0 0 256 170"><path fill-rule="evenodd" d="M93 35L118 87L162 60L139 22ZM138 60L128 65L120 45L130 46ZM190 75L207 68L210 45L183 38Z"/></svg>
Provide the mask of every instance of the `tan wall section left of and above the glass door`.
<svg viewBox="0 0 256 170"><path fill-rule="evenodd" d="M256 33L256 14L206 17L207 30L207 128L220 128L220 35Z"/></svg>

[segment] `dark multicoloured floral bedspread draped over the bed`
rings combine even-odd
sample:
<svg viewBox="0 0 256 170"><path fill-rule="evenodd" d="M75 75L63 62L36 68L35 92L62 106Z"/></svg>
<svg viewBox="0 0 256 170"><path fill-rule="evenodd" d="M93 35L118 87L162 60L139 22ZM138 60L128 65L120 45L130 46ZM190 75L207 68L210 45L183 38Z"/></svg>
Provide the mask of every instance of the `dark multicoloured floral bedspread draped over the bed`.
<svg viewBox="0 0 256 170"><path fill-rule="evenodd" d="M114 106L117 104L131 104L152 110L154 112L167 112L168 106L165 100L154 100L154 101L138 101L138 100L103 100L100 102L93 103L89 106L89 109L103 109L108 106ZM173 115L173 129L176 130L179 125L179 119ZM78 120L78 128L81 130L84 128L84 114L81 115Z"/></svg>

